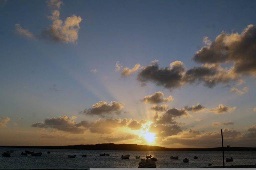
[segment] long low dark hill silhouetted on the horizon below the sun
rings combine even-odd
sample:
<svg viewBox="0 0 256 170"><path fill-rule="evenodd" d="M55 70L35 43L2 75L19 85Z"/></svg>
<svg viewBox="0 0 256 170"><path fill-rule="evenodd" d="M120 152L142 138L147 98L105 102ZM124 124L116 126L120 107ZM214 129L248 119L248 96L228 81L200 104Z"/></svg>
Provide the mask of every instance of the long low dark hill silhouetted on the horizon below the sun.
<svg viewBox="0 0 256 170"><path fill-rule="evenodd" d="M85 149L85 150L146 150L146 151L221 151L222 147L214 148L167 148L161 146L149 146L138 144L114 144L101 143L89 145L68 145L68 146L0 146L17 148L45 148L45 149ZM256 150L256 147L224 147L225 151Z"/></svg>

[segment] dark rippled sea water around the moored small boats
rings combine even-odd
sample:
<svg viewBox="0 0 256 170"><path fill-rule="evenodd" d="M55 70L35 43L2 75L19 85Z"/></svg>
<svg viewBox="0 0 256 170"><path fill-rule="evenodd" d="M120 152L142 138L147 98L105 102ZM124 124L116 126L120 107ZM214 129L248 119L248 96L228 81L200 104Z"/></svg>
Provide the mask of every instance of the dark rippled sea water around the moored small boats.
<svg viewBox="0 0 256 170"><path fill-rule="evenodd" d="M200 168L222 166L222 151L115 151L115 150L69 150L69 149L30 149L30 148L4 148L0 147L0 153L13 150L11 157L0 156L0 169L89 169L89 168L137 168L140 159L145 155L157 158L157 168ZM42 156L23 156L24 150L42 152ZM50 151L50 154L47 154ZM99 153L109 153L110 156L99 156ZM86 154L87 158L82 158ZM121 159L120 156L129 154L130 159ZM68 158L67 155L76 155L76 158ZM178 160L170 159L170 156L179 156ZM193 159L198 156L198 159ZM255 165L256 151L226 151L224 156L232 156L233 162L225 162L225 165ZM188 158L189 163L183 163Z"/></svg>

